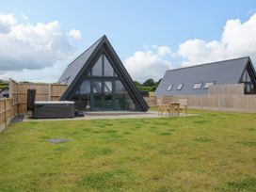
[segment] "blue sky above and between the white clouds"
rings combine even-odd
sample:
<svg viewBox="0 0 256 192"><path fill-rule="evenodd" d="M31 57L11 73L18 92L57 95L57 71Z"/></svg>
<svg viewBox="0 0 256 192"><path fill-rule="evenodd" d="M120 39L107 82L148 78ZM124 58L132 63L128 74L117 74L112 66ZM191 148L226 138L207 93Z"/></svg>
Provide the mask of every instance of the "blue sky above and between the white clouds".
<svg viewBox="0 0 256 192"><path fill-rule="evenodd" d="M187 63L195 62L196 64L215 60L213 56L211 56L211 58L206 56L205 59L205 56L203 58L200 57L200 59L194 59L195 53L191 56L187 51L181 51L180 46L187 40L192 40L191 46L199 45L200 42L195 42L195 40L203 40L206 44L213 40L221 42L227 21L238 19L241 24L244 24L248 22L256 12L255 0L14 0L0 1L0 4L0 14L12 14L17 20L17 24L35 26L38 23L49 24L57 21L59 24L58 30L63 31L63 33L68 33L70 30L75 29L79 30L81 34L79 40L71 40L72 48L69 48L68 51L71 54L69 58L60 59L56 56L56 59L52 60L54 63L46 64L45 66L37 65L40 67L35 67L34 69L33 67L31 69L24 67L23 69L23 64L20 63L20 73L31 70L38 70L35 72L39 72L39 70L44 69L44 67L54 67L56 63L62 66L58 66L56 69L63 69L63 66L68 65L75 56L83 52L90 44L105 34L116 49L120 59L128 68L128 71L131 71L134 79L140 81L150 77L150 75L157 79L161 77L160 72L164 75L167 69L185 66ZM2 44L5 45L5 43ZM162 46L168 47L169 51L167 54L158 56L158 48ZM3 52L3 49L4 46L2 45L0 52ZM185 47L184 50L186 50ZM140 59L137 59L136 53L138 57L140 56ZM247 55L247 53L250 56L251 51L245 51L243 54ZM241 54L241 56L244 56L243 54ZM235 53L230 54L229 52L229 54L225 56L229 58L236 55ZM24 54L21 56L24 56ZM51 53L51 56L55 57L53 53ZM225 56L216 56L216 60L225 59ZM158 74L150 73L148 76L139 76L139 72L133 72L133 64L131 64L131 62L138 62L139 64L139 60L144 59L142 62L147 62L147 59L151 58L152 60L154 59L154 61L151 60L151 62L155 63L152 64L153 66L150 65L149 67L152 67L152 70L157 68L163 68L163 70L160 70ZM5 62L8 60L9 59L6 59ZM48 61L51 62L51 59ZM157 65L159 62L162 62L162 64ZM6 65L15 64L10 62ZM8 67L6 67L5 72L2 72L2 74L0 72L0 78L1 75L2 78L6 78L8 75L15 75L16 73L14 71L15 69L13 70L11 67L8 69ZM39 75L38 79L32 77L32 79L28 78L28 80L55 81L56 76L57 73L47 78L41 78ZM18 79L22 80L21 77L18 77Z"/></svg>

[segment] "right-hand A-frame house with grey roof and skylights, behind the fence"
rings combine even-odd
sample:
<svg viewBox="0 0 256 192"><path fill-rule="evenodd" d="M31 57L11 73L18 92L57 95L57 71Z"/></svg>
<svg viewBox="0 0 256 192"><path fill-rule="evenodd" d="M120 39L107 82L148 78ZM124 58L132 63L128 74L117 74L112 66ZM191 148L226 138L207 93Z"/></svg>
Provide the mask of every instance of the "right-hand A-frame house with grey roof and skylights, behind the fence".
<svg viewBox="0 0 256 192"><path fill-rule="evenodd" d="M245 94L256 93L256 73L248 56L169 70L155 95L206 95L210 86L227 84L244 84Z"/></svg>

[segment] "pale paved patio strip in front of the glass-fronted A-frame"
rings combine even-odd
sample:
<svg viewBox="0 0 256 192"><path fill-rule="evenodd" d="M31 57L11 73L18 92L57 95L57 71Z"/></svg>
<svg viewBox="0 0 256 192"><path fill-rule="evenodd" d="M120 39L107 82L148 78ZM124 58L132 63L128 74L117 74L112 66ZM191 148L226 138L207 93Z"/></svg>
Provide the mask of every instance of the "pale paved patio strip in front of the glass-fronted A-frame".
<svg viewBox="0 0 256 192"><path fill-rule="evenodd" d="M181 113L178 118L198 116L195 114ZM29 116L24 117L24 121L39 120L115 120L115 119L152 119L152 118L169 118L177 116L168 116L167 114L158 115L156 111L148 112L126 112L126 111L105 111L105 112L86 112L85 117L65 118L65 119L32 119Z"/></svg>

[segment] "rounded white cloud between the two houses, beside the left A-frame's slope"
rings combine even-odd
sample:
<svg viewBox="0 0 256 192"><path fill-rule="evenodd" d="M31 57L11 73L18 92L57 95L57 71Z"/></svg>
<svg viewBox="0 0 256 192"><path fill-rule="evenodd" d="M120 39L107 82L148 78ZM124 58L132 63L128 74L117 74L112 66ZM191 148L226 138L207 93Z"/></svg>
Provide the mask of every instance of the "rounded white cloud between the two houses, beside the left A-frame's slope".
<svg viewBox="0 0 256 192"><path fill-rule="evenodd" d="M149 78L158 80L172 68L171 63L164 58L171 53L167 46L147 46L146 49L147 51L138 51L123 61L133 79L139 82Z"/></svg>

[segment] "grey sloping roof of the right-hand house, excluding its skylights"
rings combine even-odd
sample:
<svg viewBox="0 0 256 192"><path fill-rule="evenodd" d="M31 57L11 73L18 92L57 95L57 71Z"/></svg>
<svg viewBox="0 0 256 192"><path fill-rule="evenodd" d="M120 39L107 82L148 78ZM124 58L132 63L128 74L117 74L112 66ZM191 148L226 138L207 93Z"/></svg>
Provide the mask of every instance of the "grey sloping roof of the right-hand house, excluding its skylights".
<svg viewBox="0 0 256 192"><path fill-rule="evenodd" d="M207 94L208 89L203 88L207 82L215 82L215 85L237 84L248 63L251 64L251 61L247 56L167 71L155 95ZM200 89L193 89L195 83L203 85ZM181 90L177 90L179 84L184 84ZM168 91L170 85L173 87Z"/></svg>

